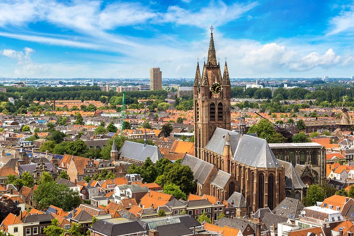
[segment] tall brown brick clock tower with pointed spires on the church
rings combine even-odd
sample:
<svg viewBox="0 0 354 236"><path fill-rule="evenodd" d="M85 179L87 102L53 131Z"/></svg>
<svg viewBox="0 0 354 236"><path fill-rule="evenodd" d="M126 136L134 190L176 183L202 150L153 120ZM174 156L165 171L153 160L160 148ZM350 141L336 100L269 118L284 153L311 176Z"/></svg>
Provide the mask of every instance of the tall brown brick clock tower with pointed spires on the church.
<svg viewBox="0 0 354 236"><path fill-rule="evenodd" d="M207 145L216 127L231 129L230 78L226 62L223 76L221 74L212 26L210 30L208 61L204 62L202 74L197 63L193 86L194 146L198 158L201 158L201 149Z"/></svg>

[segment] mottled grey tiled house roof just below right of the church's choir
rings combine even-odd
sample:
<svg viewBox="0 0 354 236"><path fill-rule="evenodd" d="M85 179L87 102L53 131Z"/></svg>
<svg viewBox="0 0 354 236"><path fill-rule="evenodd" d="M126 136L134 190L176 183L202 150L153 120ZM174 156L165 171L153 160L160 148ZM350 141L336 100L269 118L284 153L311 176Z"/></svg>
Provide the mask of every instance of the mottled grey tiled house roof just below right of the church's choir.
<svg viewBox="0 0 354 236"><path fill-rule="evenodd" d="M286 197L273 209L273 213L278 216L297 219L304 207L305 205L299 199Z"/></svg>

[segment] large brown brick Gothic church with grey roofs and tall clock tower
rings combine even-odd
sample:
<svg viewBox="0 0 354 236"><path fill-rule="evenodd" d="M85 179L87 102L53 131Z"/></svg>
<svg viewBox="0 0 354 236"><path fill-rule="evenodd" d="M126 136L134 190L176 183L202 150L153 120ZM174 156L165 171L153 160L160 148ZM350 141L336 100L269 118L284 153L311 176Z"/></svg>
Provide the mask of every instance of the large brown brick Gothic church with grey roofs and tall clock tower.
<svg viewBox="0 0 354 236"><path fill-rule="evenodd" d="M245 125L239 132L230 130L230 78L226 62L222 75L210 29L208 60L202 73L197 63L193 86L195 157L186 155L182 164L198 173L198 195L223 201L237 191L249 213L273 209L285 198L284 167L266 140L245 134Z"/></svg>

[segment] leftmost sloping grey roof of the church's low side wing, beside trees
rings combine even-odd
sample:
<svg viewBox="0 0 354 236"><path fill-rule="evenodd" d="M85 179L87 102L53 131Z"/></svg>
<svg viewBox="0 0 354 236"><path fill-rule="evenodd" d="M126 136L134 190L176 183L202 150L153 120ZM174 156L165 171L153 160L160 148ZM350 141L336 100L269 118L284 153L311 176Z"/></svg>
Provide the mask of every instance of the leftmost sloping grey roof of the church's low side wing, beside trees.
<svg viewBox="0 0 354 236"><path fill-rule="evenodd" d="M194 175L194 180L201 185L203 185L208 180L209 175L214 167L212 164L197 157L193 157L189 154L184 156L181 164L191 167Z"/></svg>

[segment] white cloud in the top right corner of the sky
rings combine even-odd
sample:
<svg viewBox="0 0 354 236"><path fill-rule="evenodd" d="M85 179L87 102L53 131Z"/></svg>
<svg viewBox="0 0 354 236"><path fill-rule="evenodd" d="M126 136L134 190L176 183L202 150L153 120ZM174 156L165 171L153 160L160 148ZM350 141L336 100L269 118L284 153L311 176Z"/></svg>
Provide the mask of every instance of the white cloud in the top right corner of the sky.
<svg viewBox="0 0 354 236"><path fill-rule="evenodd" d="M354 5L349 10L343 10L338 16L330 20L332 29L328 35L337 34L343 31L354 31Z"/></svg>

